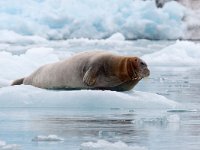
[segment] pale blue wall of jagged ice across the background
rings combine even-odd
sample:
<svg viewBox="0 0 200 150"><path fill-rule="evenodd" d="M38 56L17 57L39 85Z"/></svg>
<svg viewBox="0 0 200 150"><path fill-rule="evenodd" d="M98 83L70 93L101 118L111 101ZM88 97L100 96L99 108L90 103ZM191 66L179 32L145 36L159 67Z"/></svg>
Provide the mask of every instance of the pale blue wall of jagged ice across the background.
<svg viewBox="0 0 200 150"><path fill-rule="evenodd" d="M177 2L158 9L154 1L141 0L7 0L0 2L0 30L6 38L14 32L34 35L30 42L102 39L118 32L126 39L177 39L184 38L186 10Z"/></svg>

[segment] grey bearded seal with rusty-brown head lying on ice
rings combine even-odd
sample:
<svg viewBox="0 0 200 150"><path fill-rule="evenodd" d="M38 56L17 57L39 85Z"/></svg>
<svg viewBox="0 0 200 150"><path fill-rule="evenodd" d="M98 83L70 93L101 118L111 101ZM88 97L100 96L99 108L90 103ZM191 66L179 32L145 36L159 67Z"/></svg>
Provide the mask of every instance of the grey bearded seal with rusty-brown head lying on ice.
<svg viewBox="0 0 200 150"><path fill-rule="evenodd" d="M149 76L147 64L138 57L109 52L82 52L69 59L47 64L12 85L44 89L102 89L128 91Z"/></svg>

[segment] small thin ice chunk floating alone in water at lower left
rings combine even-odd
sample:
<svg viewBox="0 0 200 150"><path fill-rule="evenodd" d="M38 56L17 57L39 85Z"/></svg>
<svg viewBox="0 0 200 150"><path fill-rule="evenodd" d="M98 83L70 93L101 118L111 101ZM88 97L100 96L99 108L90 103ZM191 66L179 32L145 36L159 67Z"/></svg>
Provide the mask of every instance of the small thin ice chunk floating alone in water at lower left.
<svg viewBox="0 0 200 150"><path fill-rule="evenodd" d="M58 137L57 135L38 135L32 139L32 141L47 141L47 142L56 142L56 141L64 141L63 138Z"/></svg>

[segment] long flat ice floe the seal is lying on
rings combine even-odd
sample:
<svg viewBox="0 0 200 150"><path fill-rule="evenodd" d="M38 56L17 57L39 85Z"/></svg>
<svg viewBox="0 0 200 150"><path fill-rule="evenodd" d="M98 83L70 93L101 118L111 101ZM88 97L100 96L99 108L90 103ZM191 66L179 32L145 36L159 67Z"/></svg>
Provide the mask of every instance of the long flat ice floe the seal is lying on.
<svg viewBox="0 0 200 150"><path fill-rule="evenodd" d="M16 98L17 97L17 98ZM154 93L129 91L56 91L20 85L0 90L1 107L66 107L80 109L174 109L180 104Z"/></svg>

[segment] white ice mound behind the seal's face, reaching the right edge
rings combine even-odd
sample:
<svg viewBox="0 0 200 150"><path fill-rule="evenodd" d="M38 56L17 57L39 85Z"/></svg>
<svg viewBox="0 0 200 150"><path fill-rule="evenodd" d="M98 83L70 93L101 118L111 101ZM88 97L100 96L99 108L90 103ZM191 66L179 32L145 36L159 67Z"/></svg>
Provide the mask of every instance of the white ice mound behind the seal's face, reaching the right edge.
<svg viewBox="0 0 200 150"><path fill-rule="evenodd" d="M152 59L153 58L153 59ZM177 41L161 51L142 57L154 66L191 66L200 64L200 44L189 41Z"/></svg>

